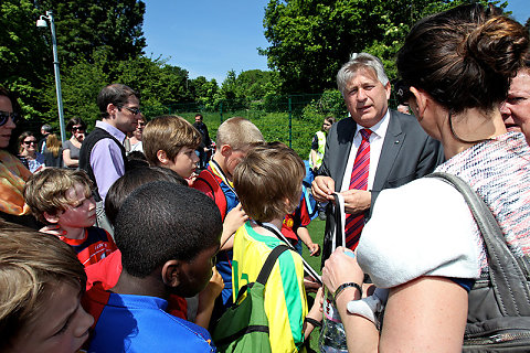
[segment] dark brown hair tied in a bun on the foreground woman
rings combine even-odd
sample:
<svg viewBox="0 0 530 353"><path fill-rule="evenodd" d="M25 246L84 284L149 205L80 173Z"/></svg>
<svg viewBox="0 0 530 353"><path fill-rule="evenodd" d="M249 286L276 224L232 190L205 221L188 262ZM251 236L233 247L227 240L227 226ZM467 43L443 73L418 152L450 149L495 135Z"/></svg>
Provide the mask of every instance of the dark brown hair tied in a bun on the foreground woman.
<svg viewBox="0 0 530 353"><path fill-rule="evenodd" d="M528 31L499 14L468 4L421 20L398 53L401 77L452 113L490 110L506 98L529 46Z"/></svg>

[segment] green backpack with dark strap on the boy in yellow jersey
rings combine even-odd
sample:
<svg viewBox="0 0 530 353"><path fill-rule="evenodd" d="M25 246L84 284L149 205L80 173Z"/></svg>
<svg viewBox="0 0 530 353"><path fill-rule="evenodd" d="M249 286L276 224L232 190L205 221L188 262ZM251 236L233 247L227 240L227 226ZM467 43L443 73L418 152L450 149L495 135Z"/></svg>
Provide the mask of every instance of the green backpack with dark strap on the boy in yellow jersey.
<svg viewBox="0 0 530 353"><path fill-rule="evenodd" d="M219 319L212 334L219 352L271 352L265 285L276 259L287 249L278 245L271 252L256 281L243 286L235 303Z"/></svg>

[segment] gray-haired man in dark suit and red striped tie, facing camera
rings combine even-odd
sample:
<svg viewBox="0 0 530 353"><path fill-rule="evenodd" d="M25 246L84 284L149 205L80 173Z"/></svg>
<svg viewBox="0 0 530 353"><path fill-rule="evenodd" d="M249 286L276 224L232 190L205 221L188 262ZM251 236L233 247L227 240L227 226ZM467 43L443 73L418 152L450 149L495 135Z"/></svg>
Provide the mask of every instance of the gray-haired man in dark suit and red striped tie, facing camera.
<svg viewBox="0 0 530 353"><path fill-rule="evenodd" d="M444 156L439 142L413 116L389 109L391 86L379 58L352 54L337 74L337 84L351 118L329 131L312 194L319 202L332 202L332 193L340 192L346 246L354 249L379 192L431 173ZM328 231L335 228L331 207L327 212L322 264L331 253Z"/></svg>

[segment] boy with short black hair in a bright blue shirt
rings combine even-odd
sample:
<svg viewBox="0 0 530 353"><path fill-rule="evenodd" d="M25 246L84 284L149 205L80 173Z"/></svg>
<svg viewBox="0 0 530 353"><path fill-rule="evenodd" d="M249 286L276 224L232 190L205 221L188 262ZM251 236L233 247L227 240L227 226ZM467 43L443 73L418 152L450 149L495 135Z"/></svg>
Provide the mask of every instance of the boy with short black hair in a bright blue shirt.
<svg viewBox="0 0 530 353"><path fill-rule="evenodd" d="M205 329L166 308L171 293L192 297L206 286L221 232L219 210L201 192L166 181L134 191L115 223L118 282L85 297L96 320L88 352L215 352Z"/></svg>

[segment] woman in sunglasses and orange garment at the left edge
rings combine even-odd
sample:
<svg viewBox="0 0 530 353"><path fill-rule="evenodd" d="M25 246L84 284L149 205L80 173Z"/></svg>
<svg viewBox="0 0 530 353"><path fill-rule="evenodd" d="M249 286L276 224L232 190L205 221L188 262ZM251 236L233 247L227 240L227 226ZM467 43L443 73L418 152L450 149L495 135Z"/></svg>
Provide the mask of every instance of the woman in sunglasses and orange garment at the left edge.
<svg viewBox="0 0 530 353"><path fill-rule="evenodd" d="M23 189L31 172L8 151L11 133L20 119L20 105L11 92L0 87L0 217L36 227L24 202Z"/></svg>

